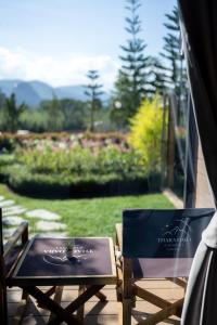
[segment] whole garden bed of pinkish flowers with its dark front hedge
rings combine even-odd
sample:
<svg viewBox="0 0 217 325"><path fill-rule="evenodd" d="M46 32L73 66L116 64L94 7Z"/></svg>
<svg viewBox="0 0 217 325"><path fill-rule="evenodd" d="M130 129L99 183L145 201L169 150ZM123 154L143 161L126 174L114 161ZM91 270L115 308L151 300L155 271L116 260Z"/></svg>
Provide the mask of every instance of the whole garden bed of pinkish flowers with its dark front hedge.
<svg viewBox="0 0 217 325"><path fill-rule="evenodd" d="M142 155L124 134L31 134L2 143L11 146L2 148L1 180L22 194L91 197L149 191Z"/></svg>

